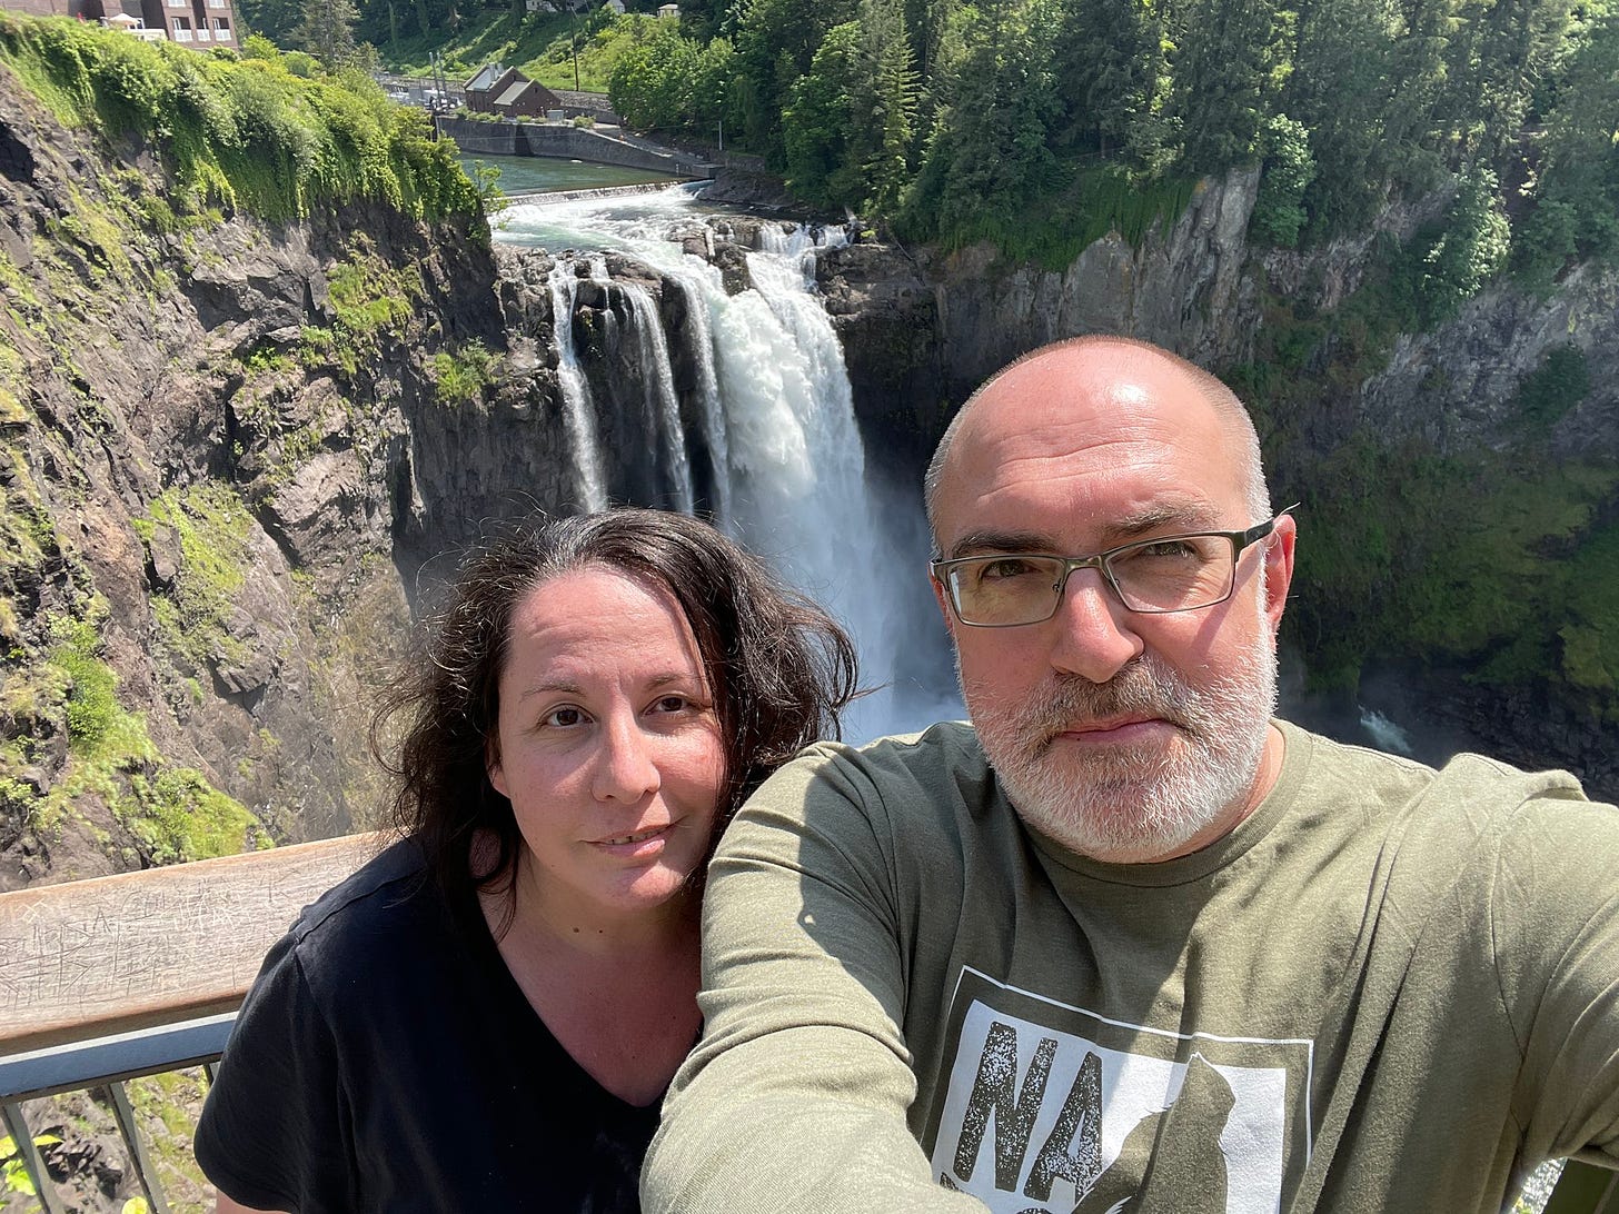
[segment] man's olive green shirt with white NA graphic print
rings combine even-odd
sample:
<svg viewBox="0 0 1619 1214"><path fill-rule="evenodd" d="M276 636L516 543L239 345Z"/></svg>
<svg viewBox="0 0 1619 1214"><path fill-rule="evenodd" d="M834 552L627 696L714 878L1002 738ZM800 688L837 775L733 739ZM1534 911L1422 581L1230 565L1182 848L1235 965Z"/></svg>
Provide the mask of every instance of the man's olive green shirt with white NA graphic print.
<svg viewBox="0 0 1619 1214"><path fill-rule="evenodd" d="M1493 1212L1619 1165L1619 813L1279 727L1271 795L1159 864L1031 834L967 725L777 772L644 1209Z"/></svg>

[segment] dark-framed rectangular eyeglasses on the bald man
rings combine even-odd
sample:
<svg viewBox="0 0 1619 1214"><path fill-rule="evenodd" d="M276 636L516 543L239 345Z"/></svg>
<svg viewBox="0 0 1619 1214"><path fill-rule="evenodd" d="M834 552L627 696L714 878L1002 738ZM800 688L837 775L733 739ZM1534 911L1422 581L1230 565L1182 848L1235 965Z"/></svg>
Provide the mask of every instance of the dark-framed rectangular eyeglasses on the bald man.
<svg viewBox="0 0 1619 1214"><path fill-rule="evenodd" d="M988 552L936 560L929 568L944 586L955 618L973 628L1015 628L1057 613L1069 575L1096 570L1128 610L1151 615L1195 612L1226 602L1237 586L1237 558L1276 531L1279 510L1247 531L1195 531L1120 544L1094 557L1046 552Z"/></svg>

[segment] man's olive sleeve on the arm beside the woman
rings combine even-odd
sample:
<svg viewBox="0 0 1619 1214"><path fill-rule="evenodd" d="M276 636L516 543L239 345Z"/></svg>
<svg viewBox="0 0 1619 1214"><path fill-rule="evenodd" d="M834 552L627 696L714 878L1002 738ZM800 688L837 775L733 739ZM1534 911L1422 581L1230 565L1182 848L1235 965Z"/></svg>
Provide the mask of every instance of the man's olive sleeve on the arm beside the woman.
<svg viewBox="0 0 1619 1214"><path fill-rule="evenodd" d="M641 1174L661 1211L983 1211L907 1125L892 838L869 779L810 756L743 808L709 869L703 1041Z"/></svg>

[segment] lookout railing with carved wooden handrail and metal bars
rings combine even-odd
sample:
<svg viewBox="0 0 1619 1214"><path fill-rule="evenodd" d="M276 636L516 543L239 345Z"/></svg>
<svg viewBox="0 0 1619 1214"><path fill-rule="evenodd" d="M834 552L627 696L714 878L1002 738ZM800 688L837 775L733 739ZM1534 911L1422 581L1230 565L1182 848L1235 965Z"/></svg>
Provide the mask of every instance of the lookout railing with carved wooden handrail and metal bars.
<svg viewBox="0 0 1619 1214"><path fill-rule="evenodd" d="M63 1214L23 1102L108 1088L152 1214L170 1214L125 1081L212 1081L264 953L377 835L0 894L0 1112L39 1206ZM0 1190L0 1204L5 1201ZM1619 1172L1569 1162L1545 1214L1619 1214Z"/></svg>

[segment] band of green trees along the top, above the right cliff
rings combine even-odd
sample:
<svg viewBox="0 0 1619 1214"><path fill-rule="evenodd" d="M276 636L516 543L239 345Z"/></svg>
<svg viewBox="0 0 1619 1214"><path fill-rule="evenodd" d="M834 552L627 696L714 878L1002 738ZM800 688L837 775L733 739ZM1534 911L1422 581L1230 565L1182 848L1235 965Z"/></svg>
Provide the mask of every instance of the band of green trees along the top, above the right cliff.
<svg viewBox="0 0 1619 1214"><path fill-rule="evenodd" d="M649 128L763 154L810 202L1062 262L1261 162L1281 246L1455 178L1433 303L1507 253L1549 280L1614 240L1606 0L748 0L640 21L612 73ZM633 21L633 18L630 18Z"/></svg>

